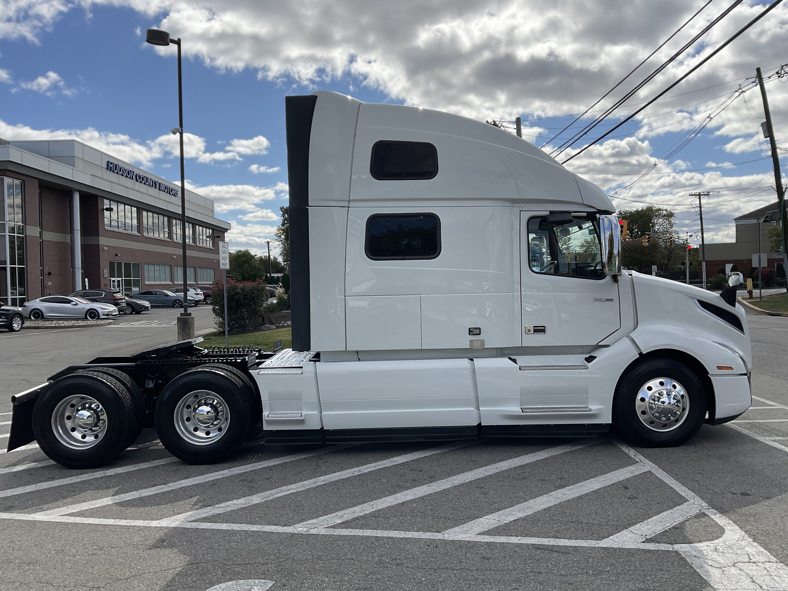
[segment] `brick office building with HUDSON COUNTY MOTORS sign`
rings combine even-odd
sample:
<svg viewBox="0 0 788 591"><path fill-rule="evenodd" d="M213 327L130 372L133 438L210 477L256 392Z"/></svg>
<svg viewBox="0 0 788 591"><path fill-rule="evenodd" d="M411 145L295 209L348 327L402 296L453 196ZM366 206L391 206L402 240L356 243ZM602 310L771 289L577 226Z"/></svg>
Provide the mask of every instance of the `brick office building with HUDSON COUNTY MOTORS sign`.
<svg viewBox="0 0 788 591"><path fill-rule="evenodd" d="M180 186L73 139L0 139L0 302L183 281ZM219 277L230 224L186 191L187 279Z"/></svg>

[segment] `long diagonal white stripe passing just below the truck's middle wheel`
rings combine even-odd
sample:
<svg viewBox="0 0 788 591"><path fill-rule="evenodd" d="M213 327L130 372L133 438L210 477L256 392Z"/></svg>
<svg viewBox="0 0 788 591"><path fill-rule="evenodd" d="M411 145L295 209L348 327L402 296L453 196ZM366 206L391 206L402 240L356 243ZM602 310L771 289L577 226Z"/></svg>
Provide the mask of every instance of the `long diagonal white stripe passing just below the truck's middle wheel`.
<svg viewBox="0 0 788 591"><path fill-rule="evenodd" d="M202 476L194 476L192 478L184 478L183 480L178 480L174 482L168 482L165 485L158 485L158 486L151 486L149 489L141 489L135 490L132 492L126 492L122 495L117 496L106 496L103 499L95 499L95 500L88 500L84 503L77 503L73 505L69 505L67 507L59 507L58 509L50 509L49 511L40 511L35 515L68 515L69 513L76 513L78 511L86 511L87 509L95 509L95 507L104 507L105 505L111 505L115 503L121 503L125 500L132 500L132 499L139 499L143 496L151 496L157 495L160 492L169 492L175 489L183 489L186 486L191 485L199 485L203 482L210 482L213 480L218 480L219 478L227 478L229 476L235 476L236 474L243 474L244 472L250 472L251 470L259 470L260 468L267 468L269 466L277 466L277 464L293 462L297 459L304 459L310 458L313 455L322 455L330 452L336 452L340 449L345 449L351 447L354 444L340 444L340 445L333 445L329 448L320 448L314 449L310 452L300 452L297 454L291 455L282 455L278 458L266 459L262 462L255 462L251 464L244 464L243 466L236 466L234 468L228 468L226 470L218 470L217 472L210 472L209 474L203 474ZM176 458L173 458L176 460Z"/></svg>

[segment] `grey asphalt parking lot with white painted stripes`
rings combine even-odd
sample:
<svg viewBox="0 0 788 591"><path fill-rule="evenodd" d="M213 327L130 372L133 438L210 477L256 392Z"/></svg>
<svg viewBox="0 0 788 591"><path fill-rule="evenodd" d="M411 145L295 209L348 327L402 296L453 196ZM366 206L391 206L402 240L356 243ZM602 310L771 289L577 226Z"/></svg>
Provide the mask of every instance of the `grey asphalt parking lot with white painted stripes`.
<svg viewBox="0 0 788 591"><path fill-rule="evenodd" d="M788 589L788 318L749 322L753 408L680 448L251 443L188 466L146 430L101 470L0 455L0 589ZM50 336L69 361L0 340L0 371L24 389L167 330L138 326Z"/></svg>

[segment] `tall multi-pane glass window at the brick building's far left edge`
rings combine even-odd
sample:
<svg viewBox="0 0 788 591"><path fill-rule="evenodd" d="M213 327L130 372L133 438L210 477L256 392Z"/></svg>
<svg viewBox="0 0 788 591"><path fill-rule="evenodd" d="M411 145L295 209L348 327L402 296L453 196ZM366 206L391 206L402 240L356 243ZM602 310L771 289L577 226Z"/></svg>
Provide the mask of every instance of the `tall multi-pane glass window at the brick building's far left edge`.
<svg viewBox="0 0 788 591"><path fill-rule="evenodd" d="M0 182L0 303L21 306L27 299L24 187L21 180L0 177Z"/></svg>

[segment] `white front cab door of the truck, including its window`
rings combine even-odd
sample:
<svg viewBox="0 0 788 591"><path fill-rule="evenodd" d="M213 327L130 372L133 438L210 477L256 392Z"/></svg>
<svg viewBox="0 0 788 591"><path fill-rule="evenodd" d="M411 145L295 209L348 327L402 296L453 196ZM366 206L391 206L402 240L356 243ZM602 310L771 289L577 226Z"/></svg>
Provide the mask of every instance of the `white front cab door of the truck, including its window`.
<svg viewBox="0 0 788 591"><path fill-rule="evenodd" d="M595 217L521 211L520 282L523 347L594 345L621 328Z"/></svg>

